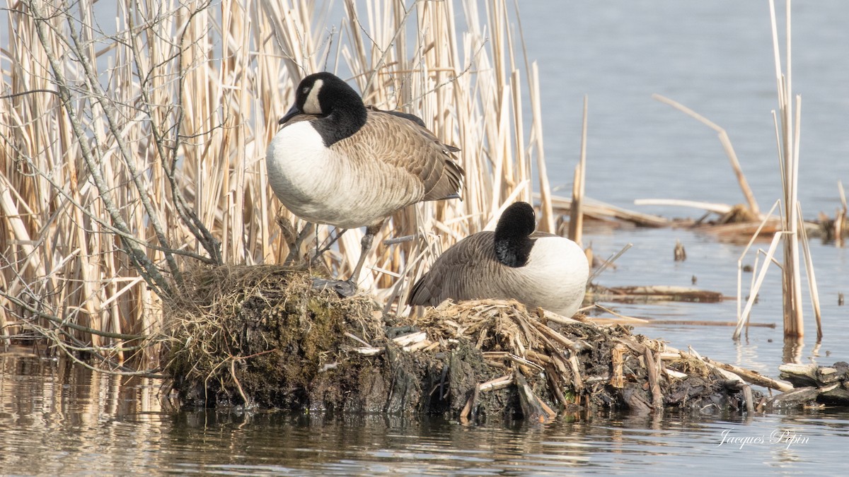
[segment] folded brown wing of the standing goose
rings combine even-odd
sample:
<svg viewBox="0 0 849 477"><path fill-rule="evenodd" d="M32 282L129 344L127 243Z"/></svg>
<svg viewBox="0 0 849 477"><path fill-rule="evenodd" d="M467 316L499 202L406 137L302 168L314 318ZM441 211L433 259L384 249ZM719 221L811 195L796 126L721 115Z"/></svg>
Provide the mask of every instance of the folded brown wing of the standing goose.
<svg viewBox="0 0 849 477"><path fill-rule="evenodd" d="M368 121L357 135L369 135L375 156L416 177L424 188L423 200L456 196L464 171L453 152L459 149L442 143L415 115L370 108Z"/></svg>

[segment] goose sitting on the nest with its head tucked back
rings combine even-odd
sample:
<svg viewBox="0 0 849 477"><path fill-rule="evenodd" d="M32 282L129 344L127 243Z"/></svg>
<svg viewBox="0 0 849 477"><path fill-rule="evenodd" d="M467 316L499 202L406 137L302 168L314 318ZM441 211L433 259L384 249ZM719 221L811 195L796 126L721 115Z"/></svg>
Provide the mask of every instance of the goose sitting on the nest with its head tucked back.
<svg viewBox="0 0 849 477"><path fill-rule="evenodd" d="M413 285L408 304L512 298L571 317L587 287L587 256L570 239L534 228L530 204L510 205L495 232L475 233L440 255Z"/></svg>

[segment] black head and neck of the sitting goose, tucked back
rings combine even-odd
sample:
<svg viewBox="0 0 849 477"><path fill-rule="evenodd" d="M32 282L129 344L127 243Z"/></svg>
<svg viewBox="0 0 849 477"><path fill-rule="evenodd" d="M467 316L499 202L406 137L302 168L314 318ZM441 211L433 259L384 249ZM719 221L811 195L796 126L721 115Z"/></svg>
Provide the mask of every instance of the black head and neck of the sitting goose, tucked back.
<svg viewBox="0 0 849 477"><path fill-rule="evenodd" d="M495 255L508 267L523 267L533 248L530 235L536 228L533 207L527 202L510 205L495 227Z"/></svg>

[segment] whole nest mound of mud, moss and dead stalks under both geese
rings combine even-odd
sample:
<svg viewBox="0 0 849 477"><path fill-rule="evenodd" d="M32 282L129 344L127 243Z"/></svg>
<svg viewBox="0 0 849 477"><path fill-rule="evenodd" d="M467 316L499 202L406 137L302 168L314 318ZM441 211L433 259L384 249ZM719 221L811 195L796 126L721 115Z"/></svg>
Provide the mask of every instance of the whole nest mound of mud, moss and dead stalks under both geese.
<svg viewBox="0 0 849 477"><path fill-rule="evenodd" d="M286 267L186 274L167 304L166 372L184 404L546 419L555 409L734 411L756 400L699 356L621 325L446 302L385 316L368 295L312 289Z"/></svg>

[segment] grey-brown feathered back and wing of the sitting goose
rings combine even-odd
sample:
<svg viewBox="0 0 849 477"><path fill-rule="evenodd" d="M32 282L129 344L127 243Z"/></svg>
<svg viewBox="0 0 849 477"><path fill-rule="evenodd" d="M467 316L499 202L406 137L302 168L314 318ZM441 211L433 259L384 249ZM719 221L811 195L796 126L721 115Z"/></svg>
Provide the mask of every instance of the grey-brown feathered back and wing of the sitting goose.
<svg viewBox="0 0 849 477"><path fill-rule="evenodd" d="M492 232L480 232L446 250L413 285L408 305L437 306L449 298L474 300L492 295L486 283L503 267L492 243Z"/></svg>

